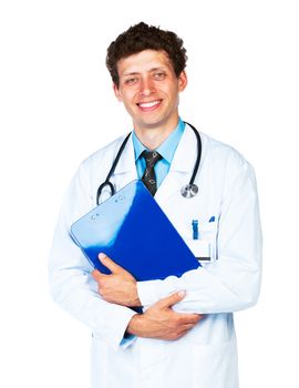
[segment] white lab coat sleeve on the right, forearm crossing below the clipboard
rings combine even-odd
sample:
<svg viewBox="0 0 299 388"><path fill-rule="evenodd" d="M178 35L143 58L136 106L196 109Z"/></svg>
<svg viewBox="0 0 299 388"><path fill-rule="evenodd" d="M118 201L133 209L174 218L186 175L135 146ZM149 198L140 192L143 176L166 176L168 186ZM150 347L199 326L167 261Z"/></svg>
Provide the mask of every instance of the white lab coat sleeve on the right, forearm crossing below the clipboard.
<svg viewBox="0 0 299 388"><path fill-rule="evenodd" d="M235 163L236 164L236 163ZM261 232L256 178L241 160L227 167L216 243L217 259L182 277L138 282L145 309L171 293L184 289L186 297L177 312L230 313L256 304L261 276Z"/></svg>

